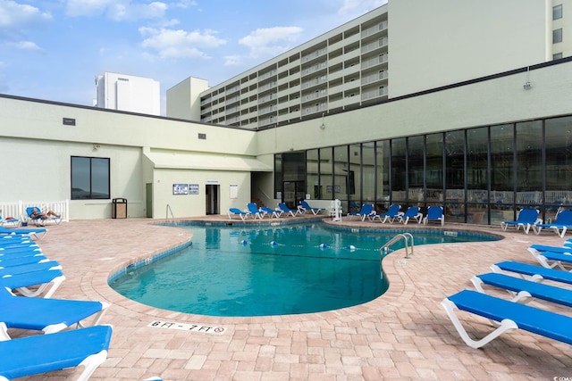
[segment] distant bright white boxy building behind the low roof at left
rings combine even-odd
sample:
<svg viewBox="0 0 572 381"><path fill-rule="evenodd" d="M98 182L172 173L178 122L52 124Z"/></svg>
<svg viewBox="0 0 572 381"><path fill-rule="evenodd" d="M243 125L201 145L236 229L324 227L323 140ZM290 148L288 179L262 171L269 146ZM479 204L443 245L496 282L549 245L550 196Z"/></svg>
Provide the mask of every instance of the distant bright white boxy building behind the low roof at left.
<svg viewBox="0 0 572 381"><path fill-rule="evenodd" d="M97 101L104 109L161 114L161 89L154 79L105 71L96 77Z"/></svg>

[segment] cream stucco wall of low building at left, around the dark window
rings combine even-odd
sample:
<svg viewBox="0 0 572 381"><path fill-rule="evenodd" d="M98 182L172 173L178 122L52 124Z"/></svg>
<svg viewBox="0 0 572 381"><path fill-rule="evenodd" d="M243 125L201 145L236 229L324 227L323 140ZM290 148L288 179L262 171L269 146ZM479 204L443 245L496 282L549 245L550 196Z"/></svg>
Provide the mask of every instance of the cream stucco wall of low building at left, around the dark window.
<svg viewBox="0 0 572 381"><path fill-rule="evenodd" d="M111 163L111 199L126 198L128 216L145 217L146 183L156 181L154 163L144 156L145 148L173 153L211 153L212 157L231 156L239 161L244 158L245 162L255 160L256 133L250 130L13 97L0 97L0 110L0 152L13 158L17 164L3 170L3 184L11 185L0 186L0 201L5 203L70 199L71 156L105 157ZM63 125L63 118L74 119L76 125ZM205 134L206 139L199 139L199 133ZM95 145L99 148L94 149ZM222 189L229 183L241 185L241 208L250 201L249 174L246 170L226 178L223 170L216 175L221 178ZM210 173L209 178L213 177ZM201 195L204 196L205 183L200 184L203 186ZM172 183L165 190L165 195L161 192L161 188L155 189L154 197L161 203L154 208L154 213L164 217L166 202L161 198L172 195ZM111 199L72 200L70 218L111 218ZM228 197L222 195L221 208L226 209L221 211L228 210L230 203ZM186 205L177 212L179 217L204 215L205 200L196 205Z"/></svg>

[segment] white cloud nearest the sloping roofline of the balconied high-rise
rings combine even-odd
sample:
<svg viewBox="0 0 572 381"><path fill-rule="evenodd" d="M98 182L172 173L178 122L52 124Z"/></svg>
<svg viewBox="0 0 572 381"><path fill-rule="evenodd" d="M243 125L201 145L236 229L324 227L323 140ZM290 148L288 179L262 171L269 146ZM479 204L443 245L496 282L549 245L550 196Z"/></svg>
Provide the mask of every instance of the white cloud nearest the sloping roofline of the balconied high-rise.
<svg viewBox="0 0 572 381"><path fill-rule="evenodd" d="M299 27L273 27L256 29L239 40L239 44L250 48L250 57L281 54L294 46L302 35Z"/></svg>

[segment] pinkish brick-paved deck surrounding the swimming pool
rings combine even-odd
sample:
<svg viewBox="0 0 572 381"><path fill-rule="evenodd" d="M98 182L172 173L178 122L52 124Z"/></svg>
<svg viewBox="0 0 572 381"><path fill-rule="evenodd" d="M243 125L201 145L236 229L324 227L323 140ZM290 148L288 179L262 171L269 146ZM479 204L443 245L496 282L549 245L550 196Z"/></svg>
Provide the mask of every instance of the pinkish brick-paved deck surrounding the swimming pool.
<svg viewBox="0 0 572 381"><path fill-rule="evenodd" d="M288 218L303 219L304 217ZM200 220L228 222L227 216ZM194 219L194 220L198 220ZM285 219L285 218L282 218ZM267 220L267 219L266 219ZM237 221L236 219L234 220ZM276 220L273 219L273 222ZM153 219L72 220L48 227L38 241L60 261L67 279L56 298L111 302L102 323L114 326L107 360L91 380L552 380L572 377L572 348L523 330L501 335L482 349L462 342L441 306L444 297L473 288L470 278L497 261L534 263L530 244L561 245L551 231L540 236L500 227L446 224L447 230L484 231L501 241L416 246L383 260L390 281L387 293L356 307L314 314L216 318L151 308L114 292L107 279L126 264L152 257L191 238L181 228L157 226ZM401 228L400 224L329 222L352 228ZM425 228L411 223L407 228ZM431 228L439 228L431 225ZM415 233L414 233L415 234ZM264 301L261 301L264 302ZM541 305L541 302L532 302ZM568 308L542 302L544 308L571 315ZM459 315L471 335L490 324ZM149 327L176 322L193 329ZM198 327L203 327L198 330ZM207 327L223 327L217 335ZM205 332L206 330L210 332ZM13 335L33 335L12 331ZM26 377L61 381L77 373L66 369Z"/></svg>

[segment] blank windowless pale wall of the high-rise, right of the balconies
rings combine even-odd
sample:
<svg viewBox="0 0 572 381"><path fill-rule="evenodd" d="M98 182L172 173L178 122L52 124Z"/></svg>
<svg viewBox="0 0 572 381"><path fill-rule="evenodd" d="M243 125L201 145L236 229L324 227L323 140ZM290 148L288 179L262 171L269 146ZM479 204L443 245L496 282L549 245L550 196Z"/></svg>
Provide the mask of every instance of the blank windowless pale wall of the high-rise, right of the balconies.
<svg viewBox="0 0 572 381"><path fill-rule="evenodd" d="M547 61L546 2L390 1L390 98Z"/></svg>

